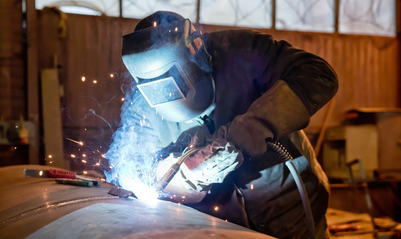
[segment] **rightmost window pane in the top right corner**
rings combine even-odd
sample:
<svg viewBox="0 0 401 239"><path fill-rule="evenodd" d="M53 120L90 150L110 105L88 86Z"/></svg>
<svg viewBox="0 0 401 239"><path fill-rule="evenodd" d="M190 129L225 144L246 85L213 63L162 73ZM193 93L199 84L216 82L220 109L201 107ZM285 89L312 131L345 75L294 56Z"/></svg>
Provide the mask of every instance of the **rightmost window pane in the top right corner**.
<svg viewBox="0 0 401 239"><path fill-rule="evenodd" d="M395 36L395 0L340 0L338 32Z"/></svg>

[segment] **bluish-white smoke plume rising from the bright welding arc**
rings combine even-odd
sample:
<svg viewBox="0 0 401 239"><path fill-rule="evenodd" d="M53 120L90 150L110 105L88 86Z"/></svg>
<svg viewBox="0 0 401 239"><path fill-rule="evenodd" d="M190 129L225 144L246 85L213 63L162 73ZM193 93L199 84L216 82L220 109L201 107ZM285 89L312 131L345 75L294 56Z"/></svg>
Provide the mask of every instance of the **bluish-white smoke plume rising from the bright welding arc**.
<svg viewBox="0 0 401 239"><path fill-rule="evenodd" d="M105 154L111 168L105 172L106 181L133 191L138 198L156 195L154 162L161 148L159 132L152 123L161 119L140 93L125 99L132 100L121 107L121 125Z"/></svg>

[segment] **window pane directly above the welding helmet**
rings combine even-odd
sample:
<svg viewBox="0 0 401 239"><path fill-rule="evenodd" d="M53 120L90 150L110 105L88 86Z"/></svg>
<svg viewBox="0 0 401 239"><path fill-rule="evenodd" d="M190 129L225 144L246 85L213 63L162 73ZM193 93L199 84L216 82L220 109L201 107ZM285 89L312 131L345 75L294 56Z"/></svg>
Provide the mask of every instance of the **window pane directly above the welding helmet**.
<svg viewBox="0 0 401 239"><path fill-rule="evenodd" d="M172 11L196 21L196 0L122 0L122 16L142 19L155 11Z"/></svg>

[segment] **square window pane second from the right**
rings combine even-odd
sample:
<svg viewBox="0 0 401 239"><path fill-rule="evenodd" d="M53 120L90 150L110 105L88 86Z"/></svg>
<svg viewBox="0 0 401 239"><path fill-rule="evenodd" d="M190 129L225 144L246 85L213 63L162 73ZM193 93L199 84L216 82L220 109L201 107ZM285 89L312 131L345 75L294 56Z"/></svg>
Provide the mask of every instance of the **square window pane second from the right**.
<svg viewBox="0 0 401 239"><path fill-rule="evenodd" d="M276 29L334 32L334 0L276 0Z"/></svg>

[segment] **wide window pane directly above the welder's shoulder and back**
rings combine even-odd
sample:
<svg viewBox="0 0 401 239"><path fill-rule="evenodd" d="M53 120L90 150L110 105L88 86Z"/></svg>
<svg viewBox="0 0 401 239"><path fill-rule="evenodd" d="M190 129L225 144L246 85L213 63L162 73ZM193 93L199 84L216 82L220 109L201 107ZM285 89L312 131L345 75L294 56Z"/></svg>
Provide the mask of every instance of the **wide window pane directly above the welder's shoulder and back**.
<svg viewBox="0 0 401 239"><path fill-rule="evenodd" d="M200 0L199 22L236 27L271 27L271 0Z"/></svg>

